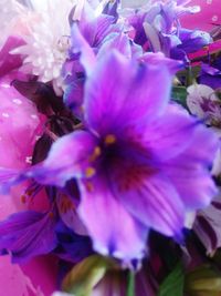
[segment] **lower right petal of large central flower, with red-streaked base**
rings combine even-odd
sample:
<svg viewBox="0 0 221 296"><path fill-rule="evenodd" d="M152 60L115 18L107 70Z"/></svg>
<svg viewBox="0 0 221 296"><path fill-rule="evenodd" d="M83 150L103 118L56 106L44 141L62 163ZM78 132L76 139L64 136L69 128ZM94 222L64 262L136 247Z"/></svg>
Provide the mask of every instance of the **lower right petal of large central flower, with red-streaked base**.
<svg viewBox="0 0 221 296"><path fill-rule="evenodd" d="M125 170L126 169L126 170ZM115 170L112 186L119 203L140 223L165 235L179 235L185 207L176 188L162 174L135 163Z"/></svg>

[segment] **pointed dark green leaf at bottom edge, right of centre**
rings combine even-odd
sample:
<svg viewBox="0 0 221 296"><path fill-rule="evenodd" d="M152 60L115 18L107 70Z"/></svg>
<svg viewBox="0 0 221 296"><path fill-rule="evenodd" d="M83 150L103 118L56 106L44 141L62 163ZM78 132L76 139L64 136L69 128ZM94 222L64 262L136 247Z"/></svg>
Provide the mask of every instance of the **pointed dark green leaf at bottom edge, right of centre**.
<svg viewBox="0 0 221 296"><path fill-rule="evenodd" d="M183 296L185 274L181 263L166 277L157 296Z"/></svg>

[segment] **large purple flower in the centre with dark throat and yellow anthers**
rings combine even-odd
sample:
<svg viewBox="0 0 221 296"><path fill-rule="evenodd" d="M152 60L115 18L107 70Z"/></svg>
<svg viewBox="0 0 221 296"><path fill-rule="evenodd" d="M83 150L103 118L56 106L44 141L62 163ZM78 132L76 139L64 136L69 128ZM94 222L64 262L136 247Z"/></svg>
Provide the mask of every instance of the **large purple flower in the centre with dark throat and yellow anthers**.
<svg viewBox="0 0 221 296"><path fill-rule="evenodd" d="M75 177L94 248L124 261L144 256L149 228L179 235L186 212L215 193L217 139L168 105L175 61L157 57L101 59L85 85L85 130L57 140L28 173L57 186Z"/></svg>

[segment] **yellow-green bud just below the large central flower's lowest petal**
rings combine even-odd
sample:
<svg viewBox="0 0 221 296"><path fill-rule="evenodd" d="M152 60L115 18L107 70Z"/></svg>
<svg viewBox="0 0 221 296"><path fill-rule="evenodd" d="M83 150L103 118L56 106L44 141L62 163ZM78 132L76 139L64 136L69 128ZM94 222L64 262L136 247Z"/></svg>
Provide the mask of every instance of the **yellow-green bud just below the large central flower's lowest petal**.
<svg viewBox="0 0 221 296"><path fill-rule="evenodd" d="M114 265L110 259L93 255L74 266L66 275L62 287L64 292L75 296L90 296L94 286L104 277L106 271Z"/></svg>

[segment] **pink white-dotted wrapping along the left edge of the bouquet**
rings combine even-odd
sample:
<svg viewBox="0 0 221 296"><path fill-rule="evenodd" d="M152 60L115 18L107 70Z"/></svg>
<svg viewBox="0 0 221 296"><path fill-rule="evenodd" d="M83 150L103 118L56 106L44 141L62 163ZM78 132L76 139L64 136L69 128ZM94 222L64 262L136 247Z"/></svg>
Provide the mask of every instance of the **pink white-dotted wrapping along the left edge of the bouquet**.
<svg viewBox="0 0 221 296"><path fill-rule="evenodd" d="M10 85L18 75L13 73L0 79L0 166L4 167L30 165L30 155L43 123L34 104ZM0 196L0 221L27 207L20 198L23 191L24 186L18 186L10 196ZM50 296L55 289L55 264L49 257L38 257L19 266L11 264L10 256L1 257L0 295Z"/></svg>

